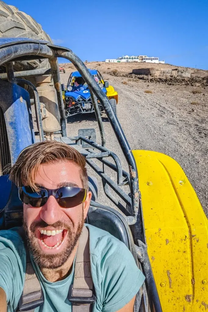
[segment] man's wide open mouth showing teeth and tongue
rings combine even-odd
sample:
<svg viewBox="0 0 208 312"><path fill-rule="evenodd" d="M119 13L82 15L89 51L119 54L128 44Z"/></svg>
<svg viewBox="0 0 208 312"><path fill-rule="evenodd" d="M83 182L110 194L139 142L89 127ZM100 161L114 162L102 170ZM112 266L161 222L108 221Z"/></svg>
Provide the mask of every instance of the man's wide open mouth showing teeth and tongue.
<svg viewBox="0 0 208 312"><path fill-rule="evenodd" d="M56 249L62 245L64 238L67 235L67 230L57 229L57 230L45 230L39 229L39 239L42 245L47 249Z"/></svg>

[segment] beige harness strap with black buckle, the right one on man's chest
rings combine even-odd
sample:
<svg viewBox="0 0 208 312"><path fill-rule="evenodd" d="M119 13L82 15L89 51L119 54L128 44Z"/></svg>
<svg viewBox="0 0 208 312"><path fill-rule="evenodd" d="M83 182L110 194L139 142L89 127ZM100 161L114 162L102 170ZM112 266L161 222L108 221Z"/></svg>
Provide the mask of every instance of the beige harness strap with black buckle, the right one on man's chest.
<svg viewBox="0 0 208 312"><path fill-rule="evenodd" d="M79 239L74 282L69 288L68 299L72 302L72 312L91 312L96 300L90 267L89 232L85 226Z"/></svg>

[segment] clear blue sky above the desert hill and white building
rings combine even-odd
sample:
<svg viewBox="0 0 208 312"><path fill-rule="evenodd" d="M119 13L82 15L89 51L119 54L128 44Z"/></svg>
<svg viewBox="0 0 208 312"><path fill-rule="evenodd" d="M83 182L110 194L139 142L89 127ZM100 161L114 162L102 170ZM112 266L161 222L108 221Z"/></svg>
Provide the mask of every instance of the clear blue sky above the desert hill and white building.
<svg viewBox="0 0 208 312"><path fill-rule="evenodd" d="M83 61L123 54L208 70L208 0L5 0ZM35 5L34 5L35 3Z"/></svg>

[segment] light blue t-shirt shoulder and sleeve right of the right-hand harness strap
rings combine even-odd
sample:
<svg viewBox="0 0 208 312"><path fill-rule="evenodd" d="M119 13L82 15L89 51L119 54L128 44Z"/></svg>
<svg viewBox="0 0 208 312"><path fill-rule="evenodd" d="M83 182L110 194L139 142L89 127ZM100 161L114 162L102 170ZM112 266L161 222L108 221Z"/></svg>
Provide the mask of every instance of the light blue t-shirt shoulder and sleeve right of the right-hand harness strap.
<svg viewBox="0 0 208 312"><path fill-rule="evenodd" d="M97 227L87 227L97 305L103 312L118 311L136 295L144 276L123 242Z"/></svg>

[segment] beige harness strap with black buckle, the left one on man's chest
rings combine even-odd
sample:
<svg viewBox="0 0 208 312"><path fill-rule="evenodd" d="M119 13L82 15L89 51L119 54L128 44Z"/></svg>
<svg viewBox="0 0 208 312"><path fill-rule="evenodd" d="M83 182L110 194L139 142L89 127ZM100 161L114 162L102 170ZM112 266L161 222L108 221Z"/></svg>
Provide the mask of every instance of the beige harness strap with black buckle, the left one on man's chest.
<svg viewBox="0 0 208 312"><path fill-rule="evenodd" d="M18 230L18 233L22 237L26 249L25 283L19 300L19 311L33 312L35 308L43 304L44 299L40 282L32 266L23 227Z"/></svg>

